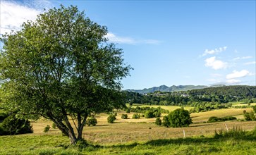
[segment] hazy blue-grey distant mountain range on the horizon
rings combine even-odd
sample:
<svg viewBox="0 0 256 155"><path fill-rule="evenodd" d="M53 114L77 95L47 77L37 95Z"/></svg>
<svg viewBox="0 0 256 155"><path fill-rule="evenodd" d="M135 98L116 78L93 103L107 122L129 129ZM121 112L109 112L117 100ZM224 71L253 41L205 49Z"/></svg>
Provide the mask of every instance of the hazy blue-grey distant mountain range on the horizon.
<svg viewBox="0 0 256 155"><path fill-rule="evenodd" d="M225 85L212 85L210 87L223 87ZM152 87L152 88L145 88L145 89L126 89L128 92L138 92L140 94L147 94L152 93L156 91L160 92L179 92L179 91L188 91L192 89L203 89L207 88L209 86L206 85L173 85L171 87L168 87L166 85L161 85L159 87Z"/></svg>

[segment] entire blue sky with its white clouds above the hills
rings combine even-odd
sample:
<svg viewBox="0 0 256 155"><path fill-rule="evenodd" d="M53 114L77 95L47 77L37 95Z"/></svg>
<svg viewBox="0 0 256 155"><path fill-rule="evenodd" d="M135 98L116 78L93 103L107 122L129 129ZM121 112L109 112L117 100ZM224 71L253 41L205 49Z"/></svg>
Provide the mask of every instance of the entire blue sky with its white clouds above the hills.
<svg viewBox="0 0 256 155"><path fill-rule="evenodd" d="M78 6L123 49L134 70L123 89L256 85L255 1L3 1L1 31L43 8Z"/></svg>

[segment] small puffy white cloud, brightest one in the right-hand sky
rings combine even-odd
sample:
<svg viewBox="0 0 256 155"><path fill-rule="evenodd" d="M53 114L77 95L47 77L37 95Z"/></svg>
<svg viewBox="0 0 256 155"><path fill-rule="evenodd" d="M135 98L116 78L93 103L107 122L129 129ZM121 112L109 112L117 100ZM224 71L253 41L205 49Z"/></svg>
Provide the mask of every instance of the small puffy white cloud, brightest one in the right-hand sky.
<svg viewBox="0 0 256 155"><path fill-rule="evenodd" d="M219 70L226 68L228 65L226 62L216 60L216 56L205 59L205 66L213 68L214 70Z"/></svg>

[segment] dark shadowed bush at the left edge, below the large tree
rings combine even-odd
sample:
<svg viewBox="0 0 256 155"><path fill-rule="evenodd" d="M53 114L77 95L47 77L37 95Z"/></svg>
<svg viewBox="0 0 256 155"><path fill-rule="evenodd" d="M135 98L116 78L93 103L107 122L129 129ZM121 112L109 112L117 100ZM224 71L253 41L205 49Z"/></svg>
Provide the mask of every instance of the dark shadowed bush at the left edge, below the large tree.
<svg viewBox="0 0 256 155"><path fill-rule="evenodd" d="M32 133L32 126L29 120L23 118L16 118L15 114L8 116L1 123L2 130L6 132L6 135L18 135L24 133Z"/></svg>

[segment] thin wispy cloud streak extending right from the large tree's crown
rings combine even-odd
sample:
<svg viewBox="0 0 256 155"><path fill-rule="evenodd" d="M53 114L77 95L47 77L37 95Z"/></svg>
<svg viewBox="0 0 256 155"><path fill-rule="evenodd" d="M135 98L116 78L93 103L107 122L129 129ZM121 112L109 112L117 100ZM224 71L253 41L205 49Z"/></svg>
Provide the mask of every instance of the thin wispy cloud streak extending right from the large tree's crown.
<svg viewBox="0 0 256 155"><path fill-rule="evenodd" d="M155 39L133 39L131 37L120 37L114 35L114 33L109 32L106 36L109 42L119 43L119 44L159 44L159 40Z"/></svg>

